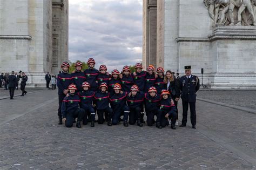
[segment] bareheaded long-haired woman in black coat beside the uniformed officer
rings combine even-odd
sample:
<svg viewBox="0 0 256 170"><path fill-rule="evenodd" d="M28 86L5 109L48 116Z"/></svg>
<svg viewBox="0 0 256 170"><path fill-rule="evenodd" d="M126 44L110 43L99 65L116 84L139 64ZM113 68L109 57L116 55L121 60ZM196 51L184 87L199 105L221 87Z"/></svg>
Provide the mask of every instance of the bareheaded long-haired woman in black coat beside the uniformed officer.
<svg viewBox="0 0 256 170"><path fill-rule="evenodd" d="M173 99L174 105L176 106L176 110L177 110L176 125L179 125L178 124L178 101L180 98L179 80L177 80L173 76L172 71L167 70L165 73L164 83L165 83L166 89L171 93L171 98Z"/></svg>

